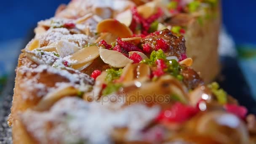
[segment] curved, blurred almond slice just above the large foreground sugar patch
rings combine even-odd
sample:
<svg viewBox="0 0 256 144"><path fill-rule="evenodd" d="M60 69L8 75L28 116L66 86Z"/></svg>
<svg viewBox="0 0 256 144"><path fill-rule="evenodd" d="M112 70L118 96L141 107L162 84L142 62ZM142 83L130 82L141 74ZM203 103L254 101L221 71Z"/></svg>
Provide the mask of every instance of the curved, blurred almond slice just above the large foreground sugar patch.
<svg viewBox="0 0 256 144"><path fill-rule="evenodd" d="M48 93L46 96L39 101L34 110L45 111L48 110L53 104L59 99L65 96L75 96L77 95L78 90L70 85L66 87L57 88L55 91Z"/></svg>

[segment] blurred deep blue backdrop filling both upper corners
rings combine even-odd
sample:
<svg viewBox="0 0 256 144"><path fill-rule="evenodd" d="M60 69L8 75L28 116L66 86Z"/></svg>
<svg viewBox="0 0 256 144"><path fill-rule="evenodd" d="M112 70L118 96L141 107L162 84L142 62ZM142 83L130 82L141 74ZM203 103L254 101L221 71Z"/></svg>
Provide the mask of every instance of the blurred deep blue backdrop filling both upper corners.
<svg viewBox="0 0 256 144"><path fill-rule="evenodd" d="M0 42L27 35L69 0L0 0ZM256 45L256 0L222 0L223 23L237 44Z"/></svg>

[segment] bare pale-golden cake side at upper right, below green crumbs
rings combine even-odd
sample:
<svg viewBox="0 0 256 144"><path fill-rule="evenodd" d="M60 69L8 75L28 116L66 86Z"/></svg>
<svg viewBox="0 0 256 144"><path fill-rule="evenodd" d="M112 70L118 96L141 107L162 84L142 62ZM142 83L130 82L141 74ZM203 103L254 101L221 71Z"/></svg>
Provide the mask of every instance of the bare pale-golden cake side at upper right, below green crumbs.
<svg viewBox="0 0 256 144"><path fill-rule="evenodd" d="M194 61L192 67L200 72L205 83L213 80L220 70L219 63L220 17L205 19L203 25L194 20L185 34L187 56Z"/></svg>

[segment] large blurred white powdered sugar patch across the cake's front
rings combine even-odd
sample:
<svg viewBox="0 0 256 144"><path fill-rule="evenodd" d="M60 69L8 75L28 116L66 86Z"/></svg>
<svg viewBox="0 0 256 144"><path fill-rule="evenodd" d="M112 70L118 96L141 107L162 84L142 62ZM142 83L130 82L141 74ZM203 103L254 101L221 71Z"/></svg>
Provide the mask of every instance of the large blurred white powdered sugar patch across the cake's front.
<svg viewBox="0 0 256 144"><path fill-rule="evenodd" d="M27 111L22 119L28 131L47 143L46 138L59 142L111 143L115 128L128 128L128 141L138 140L141 129L154 119L160 109L133 105L122 109L109 109L97 102L88 103L66 97L58 101L49 112ZM58 117L58 119L56 119ZM47 129L47 124L52 129Z"/></svg>

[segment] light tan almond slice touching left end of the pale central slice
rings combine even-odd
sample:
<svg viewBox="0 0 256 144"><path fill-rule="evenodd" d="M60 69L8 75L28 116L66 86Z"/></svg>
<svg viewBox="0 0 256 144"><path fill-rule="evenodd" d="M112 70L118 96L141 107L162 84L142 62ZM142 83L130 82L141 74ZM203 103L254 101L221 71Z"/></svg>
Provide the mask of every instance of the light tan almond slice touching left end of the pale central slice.
<svg viewBox="0 0 256 144"><path fill-rule="evenodd" d="M84 64L89 61L93 61L99 56L99 48L98 46L90 46L86 48L82 48L79 51L73 53L70 57L71 60L77 61L77 64Z"/></svg>

